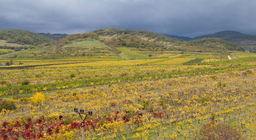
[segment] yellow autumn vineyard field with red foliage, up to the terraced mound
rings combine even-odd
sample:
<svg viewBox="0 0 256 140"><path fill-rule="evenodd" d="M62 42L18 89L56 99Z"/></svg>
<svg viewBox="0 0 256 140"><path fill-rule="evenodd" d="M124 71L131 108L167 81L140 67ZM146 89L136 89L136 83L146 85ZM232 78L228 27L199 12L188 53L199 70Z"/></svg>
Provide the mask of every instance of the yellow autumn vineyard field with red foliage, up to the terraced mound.
<svg viewBox="0 0 256 140"><path fill-rule="evenodd" d="M80 140L83 108L88 140L255 140L253 53L117 49L78 41L1 55L15 64L0 66L1 137Z"/></svg>

